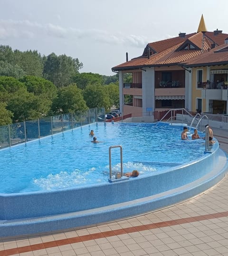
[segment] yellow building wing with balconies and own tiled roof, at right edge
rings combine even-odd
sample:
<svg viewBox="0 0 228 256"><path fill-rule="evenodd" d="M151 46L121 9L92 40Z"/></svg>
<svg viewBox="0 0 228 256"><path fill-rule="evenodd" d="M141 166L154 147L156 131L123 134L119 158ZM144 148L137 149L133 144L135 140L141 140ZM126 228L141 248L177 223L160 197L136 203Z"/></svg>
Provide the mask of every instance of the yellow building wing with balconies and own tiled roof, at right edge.
<svg viewBox="0 0 228 256"><path fill-rule="evenodd" d="M191 69L191 109L228 114L228 38L183 66Z"/></svg>

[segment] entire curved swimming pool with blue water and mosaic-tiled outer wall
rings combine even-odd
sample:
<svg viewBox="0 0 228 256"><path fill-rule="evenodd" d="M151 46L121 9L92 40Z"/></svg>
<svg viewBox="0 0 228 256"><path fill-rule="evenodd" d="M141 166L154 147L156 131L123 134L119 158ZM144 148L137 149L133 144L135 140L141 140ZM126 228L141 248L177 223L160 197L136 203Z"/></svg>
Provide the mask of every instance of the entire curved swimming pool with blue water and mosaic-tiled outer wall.
<svg viewBox="0 0 228 256"><path fill-rule="evenodd" d="M155 147L154 141L158 127L163 131L163 136L159 139L160 144ZM85 173L91 172L92 177L95 174L96 178L97 172L101 172L106 179L108 178L106 173L108 152L106 151L109 146L120 144L123 146L123 162L126 168L124 171L127 171L127 168L132 170L135 164L138 169L142 168L139 169L139 177L128 180L120 179L115 183L98 180L93 184L86 183L78 186L70 184L64 188L60 188L62 185L59 188L53 188L50 184L56 183L61 172L61 169L57 169L57 173L53 174L54 182L50 182L48 172L46 176L42 174L44 177L35 178L35 180L47 179L45 189L26 191L28 185L27 187L23 185L23 187L19 186L20 192L0 193L0 236L17 236L90 226L145 213L193 197L218 183L227 173L227 156L219 149L218 143L213 145L211 153L204 154L203 141L180 140L182 126L171 127L168 124L161 124L161 127L160 125L158 127L154 129L154 125L144 123L94 124L29 142L27 145L1 150L4 157L8 158L8 162L16 154L13 154L13 150L20 151L20 147L29 156L28 159L35 158L36 161L39 159L38 163L43 168L47 167L48 163L52 163L54 169L57 169L59 168L57 163L60 162L60 167L69 168L69 179L72 179L71 173L75 171L74 168L80 169L84 166ZM102 143L90 142L91 138L88 137L90 129L95 130L98 140L103 141ZM141 130L145 131L143 136L140 134ZM104 131L106 135L103 135ZM68 135L71 139L68 139ZM123 137L118 141L117 138L120 135ZM54 156L47 157L45 153L41 158L42 154L38 153L37 148L47 150L49 147L50 152L53 153L57 148L58 139L64 144L57 149L57 153L54 154L55 158ZM64 154L66 145L73 152L72 155ZM30 154L32 147L36 148L37 151L34 151L36 154ZM178 153L174 152L175 147L180 149ZM86 148L87 158L80 153L83 148ZM197 151L197 149L200 150ZM155 158L152 158L153 156ZM18 158L18 161L21 158ZM46 158L47 162L45 162ZM82 162L81 166L73 165L72 167L72 164L65 163L68 158L69 163L75 163L76 158ZM102 158L105 159L104 166L100 162ZM64 160L61 161L61 159ZM29 172L33 172L36 161L29 162ZM90 171L87 169L86 161L92 164ZM112 153L112 164L115 168L119 168L119 152ZM154 170L154 164L156 170ZM15 175L16 172L21 172L19 166L10 176ZM82 172L81 169L80 172ZM50 190L48 190L49 187L51 187Z"/></svg>

